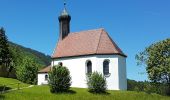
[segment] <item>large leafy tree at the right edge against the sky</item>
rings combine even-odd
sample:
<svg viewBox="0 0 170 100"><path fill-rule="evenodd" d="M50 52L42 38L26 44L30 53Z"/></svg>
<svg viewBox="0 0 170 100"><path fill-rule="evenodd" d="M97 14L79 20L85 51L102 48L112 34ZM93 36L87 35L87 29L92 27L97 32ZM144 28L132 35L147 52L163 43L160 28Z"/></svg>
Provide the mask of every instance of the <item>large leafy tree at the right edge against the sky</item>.
<svg viewBox="0 0 170 100"><path fill-rule="evenodd" d="M136 59L138 65L146 65L152 82L170 84L170 38L150 45Z"/></svg>

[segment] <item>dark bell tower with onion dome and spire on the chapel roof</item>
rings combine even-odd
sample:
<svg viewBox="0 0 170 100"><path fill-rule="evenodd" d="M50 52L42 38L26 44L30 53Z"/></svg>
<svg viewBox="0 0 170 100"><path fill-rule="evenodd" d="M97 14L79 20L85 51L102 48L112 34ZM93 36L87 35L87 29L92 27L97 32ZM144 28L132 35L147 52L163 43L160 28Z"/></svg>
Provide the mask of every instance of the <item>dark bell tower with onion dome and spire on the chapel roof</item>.
<svg viewBox="0 0 170 100"><path fill-rule="evenodd" d="M70 20L71 16L66 10L66 2L64 2L64 9L58 17L59 20L59 41L63 40L70 33Z"/></svg>

